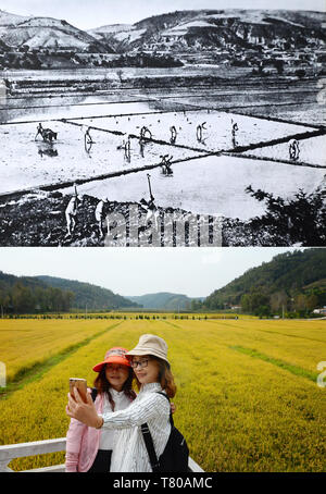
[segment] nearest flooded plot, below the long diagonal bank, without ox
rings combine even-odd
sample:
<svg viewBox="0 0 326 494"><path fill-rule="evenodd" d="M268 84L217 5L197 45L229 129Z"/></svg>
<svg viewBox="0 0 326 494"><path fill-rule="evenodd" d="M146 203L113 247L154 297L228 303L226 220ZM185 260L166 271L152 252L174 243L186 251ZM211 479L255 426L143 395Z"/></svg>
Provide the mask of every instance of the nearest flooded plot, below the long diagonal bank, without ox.
<svg viewBox="0 0 326 494"><path fill-rule="evenodd" d="M79 193L117 201L149 200L148 172L92 182L78 186ZM173 176L151 170L150 182L158 206L180 208L199 214L223 214L248 220L264 212L264 203L244 193L253 189L292 197L299 188L312 193L324 171L234 157L208 157L173 165ZM72 194L73 188L61 190Z"/></svg>

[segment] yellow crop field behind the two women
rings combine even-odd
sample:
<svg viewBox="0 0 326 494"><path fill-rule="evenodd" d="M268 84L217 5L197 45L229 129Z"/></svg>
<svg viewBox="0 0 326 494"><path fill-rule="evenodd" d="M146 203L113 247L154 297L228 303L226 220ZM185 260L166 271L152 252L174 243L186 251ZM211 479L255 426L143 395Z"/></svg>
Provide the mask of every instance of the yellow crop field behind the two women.
<svg viewBox="0 0 326 494"><path fill-rule="evenodd" d="M58 326L52 346L62 351L70 324L72 334L78 333L76 321L50 322ZM9 386L0 400L0 444L65 436L68 378L86 378L91 384L91 367L108 348L130 348L141 334L153 333L168 344L178 387L176 425L204 470L325 471L326 387L316 384L316 366L326 360L325 321L127 319L106 321L108 331L104 321L87 322L88 342L62 354L23 387ZM41 333L40 328L35 331ZM79 336L79 342L86 339L86 326ZM36 353L37 342L32 339ZM20 341L16 346L18 359ZM58 453L17 459L10 467L63 461L64 454Z"/></svg>

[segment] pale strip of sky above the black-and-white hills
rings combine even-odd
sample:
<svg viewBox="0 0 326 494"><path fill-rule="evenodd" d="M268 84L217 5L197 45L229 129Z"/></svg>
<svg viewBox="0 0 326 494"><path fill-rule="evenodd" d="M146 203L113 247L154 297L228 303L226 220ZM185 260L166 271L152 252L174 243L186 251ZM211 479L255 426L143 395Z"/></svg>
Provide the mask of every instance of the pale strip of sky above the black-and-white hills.
<svg viewBox="0 0 326 494"><path fill-rule="evenodd" d="M134 24L176 10L288 9L325 12L325 0L1 0L0 9L18 15L63 18L80 29Z"/></svg>

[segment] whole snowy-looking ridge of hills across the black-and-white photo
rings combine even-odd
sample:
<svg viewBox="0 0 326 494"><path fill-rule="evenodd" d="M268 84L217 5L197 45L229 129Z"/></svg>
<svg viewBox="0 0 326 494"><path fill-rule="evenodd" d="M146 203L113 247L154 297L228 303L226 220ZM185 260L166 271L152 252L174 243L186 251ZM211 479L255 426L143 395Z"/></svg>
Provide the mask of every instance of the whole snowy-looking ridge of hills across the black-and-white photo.
<svg viewBox="0 0 326 494"><path fill-rule="evenodd" d="M79 29L64 20L22 16L0 10L1 40L13 48L74 49L99 53L139 50L190 52L223 47L254 48L304 38L326 41L326 13L286 9L199 9L167 12L134 24Z"/></svg>

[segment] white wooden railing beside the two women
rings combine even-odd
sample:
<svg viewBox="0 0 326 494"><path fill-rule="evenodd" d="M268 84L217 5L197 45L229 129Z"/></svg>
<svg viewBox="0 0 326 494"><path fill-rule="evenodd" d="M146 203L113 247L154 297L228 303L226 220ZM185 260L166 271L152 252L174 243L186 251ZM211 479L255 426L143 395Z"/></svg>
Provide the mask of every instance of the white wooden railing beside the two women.
<svg viewBox="0 0 326 494"><path fill-rule="evenodd" d="M0 446L0 472L13 472L8 465L15 458L26 456L43 455L46 453L58 453L65 450L65 437L57 440L35 441L34 443L20 443ZM64 465L53 465L52 467L35 468L24 470L25 472L64 472ZM203 472L202 468L189 458L189 471Z"/></svg>

